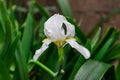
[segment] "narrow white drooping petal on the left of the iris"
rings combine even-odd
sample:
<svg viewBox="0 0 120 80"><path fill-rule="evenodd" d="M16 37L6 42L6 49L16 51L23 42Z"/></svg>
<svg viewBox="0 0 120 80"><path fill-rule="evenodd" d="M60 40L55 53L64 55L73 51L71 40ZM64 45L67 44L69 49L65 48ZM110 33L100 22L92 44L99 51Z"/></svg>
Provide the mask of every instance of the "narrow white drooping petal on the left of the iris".
<svg viewBox="0 0 120 80"><path fill-rule="evenodd" d="M33 56L34 60L37 60L39 56L49 47L49 44L51 43L51 40L44 40L43 45L40 49L36 50L35 55Z"/></svg>

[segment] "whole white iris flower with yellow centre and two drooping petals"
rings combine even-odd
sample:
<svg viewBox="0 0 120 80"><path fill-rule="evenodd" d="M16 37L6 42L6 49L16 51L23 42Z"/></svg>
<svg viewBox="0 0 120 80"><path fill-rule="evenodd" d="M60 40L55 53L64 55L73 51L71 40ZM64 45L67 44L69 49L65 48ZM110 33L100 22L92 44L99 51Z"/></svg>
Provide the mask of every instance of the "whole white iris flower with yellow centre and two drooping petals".
<svg viewBox="0 0 120 80"><path fill-rule="evenodd" d="M90 57L88 49L76 42L74 38L74 25L69 23L64 16L55 14L50 17L44 24L44 33L47 38L43 40L42 47L36 50L33 57L34 60L39 58L39 56L49 47L51 42L55 43L58 47L64 47L68 43L72 48L75 48L80 52L85 59Z"/></svg>

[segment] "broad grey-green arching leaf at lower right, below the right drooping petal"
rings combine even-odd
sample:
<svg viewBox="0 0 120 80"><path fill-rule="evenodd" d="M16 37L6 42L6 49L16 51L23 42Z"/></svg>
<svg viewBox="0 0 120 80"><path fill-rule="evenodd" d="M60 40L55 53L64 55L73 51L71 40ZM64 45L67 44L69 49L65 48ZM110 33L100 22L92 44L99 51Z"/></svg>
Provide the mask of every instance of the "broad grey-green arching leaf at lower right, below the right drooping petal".
<svg viewBox="0 0 120 80"><path fill-rule="evenodd" d="M88 60L78 70L74 80L101 80L108 70L113 70L111 64ZM114 73L107 80L115 80Z"/></svg>

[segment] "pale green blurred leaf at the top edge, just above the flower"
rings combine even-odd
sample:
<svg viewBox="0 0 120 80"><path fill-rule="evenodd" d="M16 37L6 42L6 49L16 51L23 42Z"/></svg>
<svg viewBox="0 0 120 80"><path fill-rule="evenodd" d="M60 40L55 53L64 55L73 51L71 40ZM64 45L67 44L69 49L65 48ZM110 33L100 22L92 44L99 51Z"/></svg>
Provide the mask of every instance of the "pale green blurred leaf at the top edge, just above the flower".
<svg viewBox="0 0 120 80"><path fill-rule="evenodd" d="M63 15L70 16L73 18L73 14L72 14L70 5L68 3L68 0L57 0L57 2L61 8Z"/></svg>

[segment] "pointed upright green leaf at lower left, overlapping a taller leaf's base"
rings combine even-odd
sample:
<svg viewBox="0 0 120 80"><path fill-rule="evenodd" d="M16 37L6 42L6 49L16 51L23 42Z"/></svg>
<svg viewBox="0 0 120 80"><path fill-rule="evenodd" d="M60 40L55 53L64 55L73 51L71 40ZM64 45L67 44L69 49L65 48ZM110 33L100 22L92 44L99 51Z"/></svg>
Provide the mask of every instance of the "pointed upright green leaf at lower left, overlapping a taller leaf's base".
<svg viewBox="0 0 120 80"><path fill-rule="evenodd" d="M14 80L29 80L26 58L25 55L23 54L20 42L17 46L17 51L15 53L15 63L16 69L14 72Z"/></svg>

